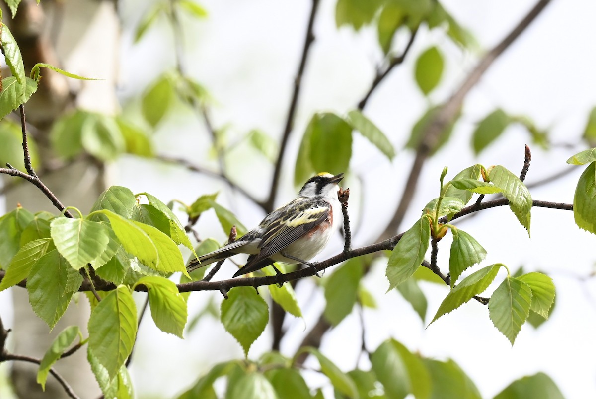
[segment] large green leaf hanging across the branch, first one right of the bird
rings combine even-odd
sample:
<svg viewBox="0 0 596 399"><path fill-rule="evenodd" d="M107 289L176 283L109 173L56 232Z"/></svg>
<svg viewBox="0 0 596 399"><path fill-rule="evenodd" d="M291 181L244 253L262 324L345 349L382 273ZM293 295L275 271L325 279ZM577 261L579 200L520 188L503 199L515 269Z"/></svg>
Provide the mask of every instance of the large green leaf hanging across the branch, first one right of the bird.
<svg viewBox="0 0 596 399"><path fill-rule="evenodd" d="M403 233L398 245L393 248L385 275L389 279L389 289L395 288L410 278L424 260L429 249L430 225L427 217L421 217L414 226Z"/></svg>

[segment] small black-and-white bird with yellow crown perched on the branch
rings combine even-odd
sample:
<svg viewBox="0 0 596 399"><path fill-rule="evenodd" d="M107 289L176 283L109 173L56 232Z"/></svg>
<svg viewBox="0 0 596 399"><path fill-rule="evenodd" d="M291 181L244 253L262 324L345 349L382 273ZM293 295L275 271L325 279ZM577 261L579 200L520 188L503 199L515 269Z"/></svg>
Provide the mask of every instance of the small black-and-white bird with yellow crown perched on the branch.
<svg viewBox="0 0 596 399"><path fill-rule="evenodd" d="M342 179L343 173L316 174L306 181L296 198L265 216L259 226L219 250L194 258L188 263L187 271L240 253L249 257L234 277L269 264L279 276L282 273L273 264L275 261L314 267L309 260L325 248L338 225L333 222L333 214L341 206L337 193Z"/></svg>

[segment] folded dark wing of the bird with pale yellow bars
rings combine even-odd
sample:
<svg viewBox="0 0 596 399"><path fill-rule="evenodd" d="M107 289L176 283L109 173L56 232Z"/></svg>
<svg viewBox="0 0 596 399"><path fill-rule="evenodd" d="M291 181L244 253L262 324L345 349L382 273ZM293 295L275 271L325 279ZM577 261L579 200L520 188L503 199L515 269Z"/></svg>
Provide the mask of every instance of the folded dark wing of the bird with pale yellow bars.
<svg viewBox="0 0 596 399"><path fill-rule="evenodd" d="M259 254L252 259L254 263L278 253L327 220L331 204L321 198L300 199L290 202L277 212L277 218L269 223L263 233Z"/></svg>

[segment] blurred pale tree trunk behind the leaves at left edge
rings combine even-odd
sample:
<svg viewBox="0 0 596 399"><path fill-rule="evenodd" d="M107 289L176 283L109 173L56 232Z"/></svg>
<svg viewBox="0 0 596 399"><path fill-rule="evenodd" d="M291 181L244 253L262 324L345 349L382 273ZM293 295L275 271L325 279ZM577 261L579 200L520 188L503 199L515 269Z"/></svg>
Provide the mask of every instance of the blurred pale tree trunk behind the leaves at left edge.
<svg viewBox="0 0 596 399"><path fill-rule="evenodd" d="M2 4L4 8L5 4ZM38 92L25 105L27 123L39 145L42 180L66 206L75 206L87 212L98 195L107 187L105 167L91 159L79 160L56 170L59 161L52 157L48 133L57 117L73 107L114 113L117 110L116 79L118 62L119 21L113 1L23 0L17 17L10 21L10 11L4 18L23 52L26 70L39 62L52 64L85 77L98 77L100 81L72 80L49 70L42 70ZM54 170L45 172L44 170ZM14 183L6 177L4 183ZM17 204L33 212L56 212L48 199L27 182L15 185L6 193L8 210ZM66 326L78 325L86 335L89 306L84 295L78 303L71 304L52 332L31 310L27 292L12 288L14 300L13 329L9 345L17 354L41 358L55 335ZM38 367L35 364L14 361L12 377L18 397L66 398L64 389L49 376L43 392L36 382ZM82 398L98 397L101 392L91 373L83 348L66 359L58 361L55 369Z"/></svg>

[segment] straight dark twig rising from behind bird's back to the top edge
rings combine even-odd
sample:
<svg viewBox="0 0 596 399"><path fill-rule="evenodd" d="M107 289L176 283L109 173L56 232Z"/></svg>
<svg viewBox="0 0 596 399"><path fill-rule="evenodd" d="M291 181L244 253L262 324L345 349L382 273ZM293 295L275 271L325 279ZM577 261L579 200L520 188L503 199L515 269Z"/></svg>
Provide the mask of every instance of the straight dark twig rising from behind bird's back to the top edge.
<svg viewBox="0 0 596 399"><path fill-rule="evenodd" d="M290 101L290 107L288 108L288 115L285 119L284 133L281 137L280 152L275 161L275 169L273 172L273 178L271 180L271 188L269 189L269 198L265 201L265 211L271 212L275 203L275 195L277 195L277 187L280 183L281 168L284 161L285 148L290 138L290 133L294 127L294 118L296 117L296 108L298 105L298 96L300 94L300 87L302 85L302 76L306 67L306 61L308 60L309 49L311 48L312 42L315 40L313 33L313 26L315 24L315 16L318 10L319 0L312 0L311 15L308 20L308 27L306 28L306 37L304 40L304 47L302 49L302 57L300 58L300 65L294 79L294 91Z"/></svg>

